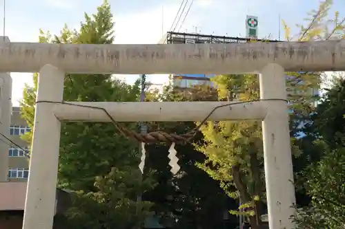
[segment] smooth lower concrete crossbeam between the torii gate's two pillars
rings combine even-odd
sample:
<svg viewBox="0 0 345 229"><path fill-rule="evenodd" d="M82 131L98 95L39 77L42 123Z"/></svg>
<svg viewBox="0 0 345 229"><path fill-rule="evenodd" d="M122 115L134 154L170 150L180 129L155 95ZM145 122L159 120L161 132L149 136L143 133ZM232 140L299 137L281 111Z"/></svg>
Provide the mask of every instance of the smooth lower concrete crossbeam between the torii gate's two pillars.
<svg viewBox="0 0 345 229"><path fill-rule="evenodd" d="M118 122L202 121L215 107L208 120L249 120L266 116L267 102L68 102L75 105L101 107ZM231 105L233 103L233 105ZM230 106L227 106L229 105ZM111 122L101 109L57 104L53 113L63 121Z"/></svg>

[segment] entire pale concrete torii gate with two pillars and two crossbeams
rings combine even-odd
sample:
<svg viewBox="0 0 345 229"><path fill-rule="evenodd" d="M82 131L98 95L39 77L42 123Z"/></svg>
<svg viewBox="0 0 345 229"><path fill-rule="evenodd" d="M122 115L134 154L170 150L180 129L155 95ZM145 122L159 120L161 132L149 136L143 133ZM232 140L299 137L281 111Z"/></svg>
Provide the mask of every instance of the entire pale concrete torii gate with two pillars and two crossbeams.
<svg viewBox="0 0 345 229"><path fill-rule="evenodd" d="M292 182L288 108L284 101L284 70L345 70L345 41L226 45L1 43L0 52L0 72L39 72L23 229L52 228L60 121L110 122L99 109L59 104L63 95L63 78L67 73L259 73L262 101L222 107L210 116L210 120L263 120L269 226L273 229L293 229L290 216L295 214L292 207L295 204L295 188ZM103 107L119 122L199 121L213 108L226 103L73 102L76 105Z"/></svg>

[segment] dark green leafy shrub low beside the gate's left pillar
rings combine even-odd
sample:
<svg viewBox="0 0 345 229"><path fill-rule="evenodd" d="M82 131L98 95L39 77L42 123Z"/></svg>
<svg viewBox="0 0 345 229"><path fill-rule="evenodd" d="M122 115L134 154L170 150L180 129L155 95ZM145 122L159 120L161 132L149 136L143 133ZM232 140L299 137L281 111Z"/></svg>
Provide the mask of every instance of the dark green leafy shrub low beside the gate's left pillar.
<svg viewBox="0 0 345 229"><path fill-rule="evenodd" d="M128 171L132 171L132 168L128 168ZM139 183L140 175L139 170L128 173L123 169L112 168L108 175L97 177L97 191L79 191L73 196L74 207L66 212L70 219L68 226L76 229L140 228L145 218L151 214L152 206L148 201L135 199L143 188L145 190L152 187L152 183L147 179ZM137 214L138 209L140 214Z"/></svg>

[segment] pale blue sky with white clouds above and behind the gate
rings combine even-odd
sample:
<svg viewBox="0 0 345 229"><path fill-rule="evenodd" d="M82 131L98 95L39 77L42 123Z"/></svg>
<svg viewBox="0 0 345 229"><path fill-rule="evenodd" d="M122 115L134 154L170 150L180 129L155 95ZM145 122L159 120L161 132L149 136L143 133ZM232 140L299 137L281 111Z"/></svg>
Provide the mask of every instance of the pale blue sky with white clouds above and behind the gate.
<svg viewBox="0 0 345 229"><path fill-rule="evenodd" d="M155 44L164 32L170 30L181 0L109 0L108 2L114 15L115 43ZM5 35L12 42L37 42L39 29L59 34L65 23L70 28L79 28L84 13L94 13L101 3L101 0L6 1ZM0 4L3 2L1 1ZM307 12L316 9L318 4L318 0L195 0L179 32L246 36L246 15L253 15L258 17L259 38L270 36L272 39L279 39L279 15L291 27L292 34L295 34L298 32L295 24L303 23ZM345 1L334 0L332 14L335 10L339 10L342 15L344 7ZM0 13L1 19L3 13ZM177 26L177 30L179 27L180 25ZM2 34L2 22L0 28ZM283 32L281 36L281 39L284 39ZM16 106L19 104L17 101L22 97L24 84L32 84L32 74L11 73L11 76L12 103ZM128 83L138 78L137 75L117 77ZM148 80L152 83L165 83L167 76L152 75Z"/></svg>

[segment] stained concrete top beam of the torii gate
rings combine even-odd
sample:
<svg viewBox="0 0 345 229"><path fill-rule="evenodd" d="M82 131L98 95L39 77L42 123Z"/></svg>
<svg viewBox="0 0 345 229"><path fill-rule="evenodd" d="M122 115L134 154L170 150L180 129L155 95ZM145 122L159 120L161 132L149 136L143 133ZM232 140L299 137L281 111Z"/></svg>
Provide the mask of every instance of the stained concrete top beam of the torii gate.
<svg viewBox="0 0 345 229"><path fill-rule="evenodd" d="M345 40L175 45L1 43L0 72L227 74L257 72L267 63L286 71L345 70Z"/></svg>

